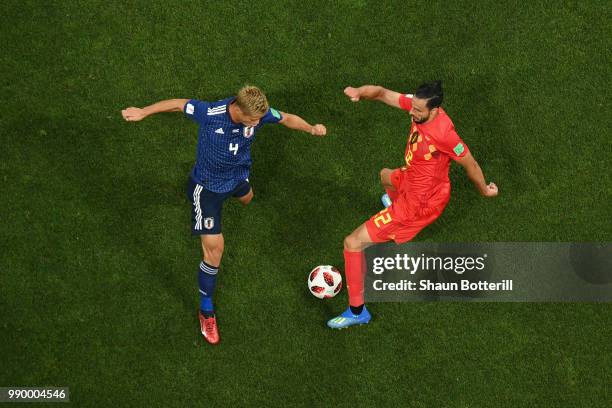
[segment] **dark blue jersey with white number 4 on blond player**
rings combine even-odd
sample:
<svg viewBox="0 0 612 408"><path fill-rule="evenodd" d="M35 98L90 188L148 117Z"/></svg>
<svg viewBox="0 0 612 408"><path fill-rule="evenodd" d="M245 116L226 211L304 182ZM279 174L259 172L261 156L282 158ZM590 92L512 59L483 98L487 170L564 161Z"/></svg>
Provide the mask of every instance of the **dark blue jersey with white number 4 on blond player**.
<svg viewBox="0 0 612 408"><path fill-rule="evenodd" d="M185 115L200 126L191 177L216 193L232 191L249 177L255 133L266 123L278 123L282 119L279 111L270 108L255 127L234 123L229 114L234 99L217 102L190 99L184 107Z"/></svg>

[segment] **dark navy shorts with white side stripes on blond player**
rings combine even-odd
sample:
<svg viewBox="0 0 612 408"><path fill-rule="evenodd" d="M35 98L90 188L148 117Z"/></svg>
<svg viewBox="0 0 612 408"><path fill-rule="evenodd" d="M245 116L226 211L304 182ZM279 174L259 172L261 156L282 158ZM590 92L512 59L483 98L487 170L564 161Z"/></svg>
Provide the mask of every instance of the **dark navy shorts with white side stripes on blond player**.
<svg viewBox="0 0 612 408"><path fill-rule="evenodd" d="M243 180L227 193L215 193L205 189L189 177L187 199L191 201L191 233L209 235L221 233L223 202L230 197L243 197L251 191L248 180Z"/></svg>

